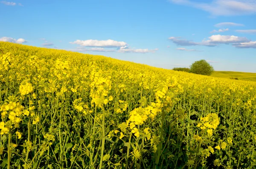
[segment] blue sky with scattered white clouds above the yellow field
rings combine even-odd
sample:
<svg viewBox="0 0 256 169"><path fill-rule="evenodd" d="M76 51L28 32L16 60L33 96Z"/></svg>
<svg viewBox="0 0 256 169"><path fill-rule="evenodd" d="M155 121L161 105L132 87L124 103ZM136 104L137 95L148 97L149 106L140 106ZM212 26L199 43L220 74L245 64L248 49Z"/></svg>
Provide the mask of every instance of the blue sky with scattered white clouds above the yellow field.
<svg viewBox="0 0 256 169"><path fill-rule="evenodd" d="M256 0L0 0L0 41L256 72Z"/></svg>

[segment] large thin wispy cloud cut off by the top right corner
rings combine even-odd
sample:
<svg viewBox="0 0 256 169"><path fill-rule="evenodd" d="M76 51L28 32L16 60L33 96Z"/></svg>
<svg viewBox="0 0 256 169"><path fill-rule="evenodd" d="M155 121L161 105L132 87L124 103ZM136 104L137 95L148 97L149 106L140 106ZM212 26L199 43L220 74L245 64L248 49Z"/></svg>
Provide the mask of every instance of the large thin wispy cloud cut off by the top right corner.
<svg viewBox="0 0 256 169"><path fill-rule="evenodd" d="M207 3L195 0L169 0L172 3L191 6L209 12L214 16L233 16L256 13L255 0L212 0Z"/></svg>

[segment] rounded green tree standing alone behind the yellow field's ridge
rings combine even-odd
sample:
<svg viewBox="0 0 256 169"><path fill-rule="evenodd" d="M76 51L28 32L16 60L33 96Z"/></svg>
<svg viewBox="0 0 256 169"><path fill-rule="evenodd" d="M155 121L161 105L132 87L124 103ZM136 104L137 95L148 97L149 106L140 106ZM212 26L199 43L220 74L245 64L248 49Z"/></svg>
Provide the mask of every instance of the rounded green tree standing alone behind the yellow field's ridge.
<svg viewBox="0 0 256 169"><path fill-rule="evenodd" d="M190 66L190 72L195 74L202 74L202 75L211 75L214 71L213 67L206 61L206 60L198 60L195 61Z"/></svg>

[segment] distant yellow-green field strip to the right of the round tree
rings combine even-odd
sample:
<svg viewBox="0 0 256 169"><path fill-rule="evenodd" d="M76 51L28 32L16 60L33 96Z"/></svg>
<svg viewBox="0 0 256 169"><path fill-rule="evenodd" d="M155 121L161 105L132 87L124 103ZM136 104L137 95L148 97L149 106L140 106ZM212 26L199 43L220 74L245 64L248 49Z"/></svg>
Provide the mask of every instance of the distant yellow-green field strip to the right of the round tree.
<svg viewBox="0 0 256 169"><path fill-rule="evenodd" d="M246 73L246 72L227 72L227 71L215 71L211 75L212 77L237 77L239 80L249 80L256 81L256 73Z"/></svg>

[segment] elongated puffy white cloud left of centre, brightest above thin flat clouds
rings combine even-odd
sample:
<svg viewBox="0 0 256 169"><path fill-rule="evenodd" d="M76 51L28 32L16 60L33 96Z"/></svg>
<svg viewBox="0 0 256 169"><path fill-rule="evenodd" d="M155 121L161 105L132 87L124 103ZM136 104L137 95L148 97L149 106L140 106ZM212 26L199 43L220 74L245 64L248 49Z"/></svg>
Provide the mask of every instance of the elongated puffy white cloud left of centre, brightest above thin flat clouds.
<svg viewBox="0 0 256 169"><path fill-rule="evenodd" d="M74 42L70 42L71 44L78 44L81 46L88 47L105 47L105 48L113 48L113 47L122 47L126 46L125 42L118 42L115 40L76 40Z"/></svg>

